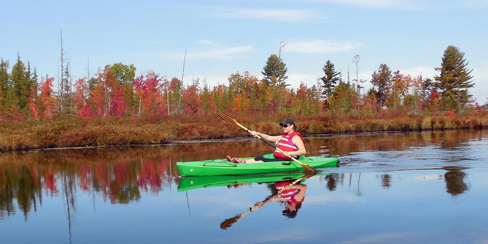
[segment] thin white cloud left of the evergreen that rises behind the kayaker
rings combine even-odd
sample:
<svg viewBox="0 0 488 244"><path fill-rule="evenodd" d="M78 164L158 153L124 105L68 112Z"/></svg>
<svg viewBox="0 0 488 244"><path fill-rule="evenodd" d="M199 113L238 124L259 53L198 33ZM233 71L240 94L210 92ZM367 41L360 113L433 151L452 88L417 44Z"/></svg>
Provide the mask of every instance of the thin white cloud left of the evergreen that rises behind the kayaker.
<svg viewBox="0 0 488 244"><path fill-rule="evenodd" d="M236 57L244 56L246 53L253 50L253 47L248 46L237 46L237 47L216 47L208 51L197 51L197 52L187 52L187 59L201 59L201 58L212 58L220 60L230 60ZM181 53L172 53L166 55L170 59L183 59L184 56Z"/></svg>

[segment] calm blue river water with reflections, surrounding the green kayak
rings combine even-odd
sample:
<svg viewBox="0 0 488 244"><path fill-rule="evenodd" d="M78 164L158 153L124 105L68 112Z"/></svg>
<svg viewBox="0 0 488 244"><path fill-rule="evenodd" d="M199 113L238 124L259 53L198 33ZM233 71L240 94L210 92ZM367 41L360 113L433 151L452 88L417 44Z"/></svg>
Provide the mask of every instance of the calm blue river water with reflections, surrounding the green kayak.
<svg viewBox="0 0 488 244"><path fill-rule="evenodd" d="M271 151L256 140L0 154L0 243L488 243L488 131L324 135L306 146L340 167L179 177L178 161ZM296 215L276 197L285 179L301 179Z"/></svg>

